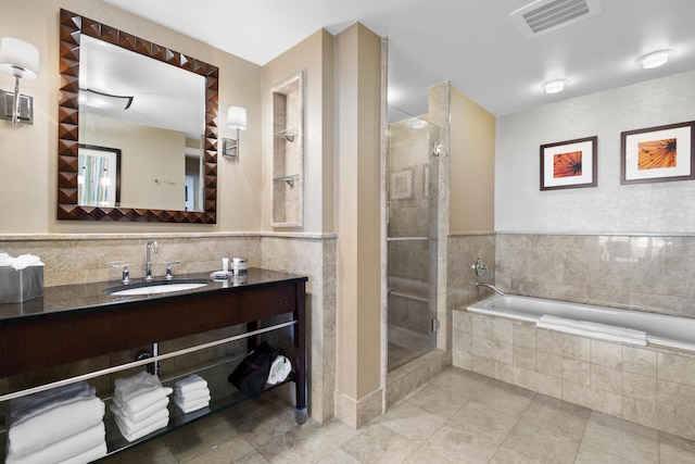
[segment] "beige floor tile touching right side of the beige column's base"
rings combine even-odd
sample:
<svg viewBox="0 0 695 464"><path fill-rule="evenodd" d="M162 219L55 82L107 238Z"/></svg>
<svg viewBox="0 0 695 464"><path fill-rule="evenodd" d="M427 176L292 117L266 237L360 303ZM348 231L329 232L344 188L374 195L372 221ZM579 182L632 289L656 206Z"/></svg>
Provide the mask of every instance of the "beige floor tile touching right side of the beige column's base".
<svg viewBox="0 0 695 464"><path fill-rule="evenodd" d="M375 422L418 443L424 443L446 423L442 417L408 403L396 404Z"/></svg>

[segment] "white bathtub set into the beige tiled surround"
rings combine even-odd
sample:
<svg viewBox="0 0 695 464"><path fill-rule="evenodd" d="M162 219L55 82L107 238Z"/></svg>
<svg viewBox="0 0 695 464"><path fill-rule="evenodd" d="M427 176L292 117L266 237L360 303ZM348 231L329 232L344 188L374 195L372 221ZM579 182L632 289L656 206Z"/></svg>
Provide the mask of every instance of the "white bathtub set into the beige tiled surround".
<svg viewBox="0 0 695 464"><path fill-rule="evenodd" d="M648 344L695 352L695 318L496 294L466 308L470 313L538 323L543 315L642 330Z"/></svg>

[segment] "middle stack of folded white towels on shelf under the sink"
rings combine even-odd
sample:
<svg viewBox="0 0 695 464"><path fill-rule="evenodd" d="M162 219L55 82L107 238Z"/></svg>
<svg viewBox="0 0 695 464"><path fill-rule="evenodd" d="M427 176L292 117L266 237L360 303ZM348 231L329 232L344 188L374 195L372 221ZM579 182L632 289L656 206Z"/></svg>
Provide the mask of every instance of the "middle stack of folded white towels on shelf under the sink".
<svg viewBox="0 0 695 464"><path fill-rule="evenodd" d="M163 387L156 375L143 371L116 379L115 387L109 409L126 440L137 440L168 425L168 396L174 390Z"/></svg>

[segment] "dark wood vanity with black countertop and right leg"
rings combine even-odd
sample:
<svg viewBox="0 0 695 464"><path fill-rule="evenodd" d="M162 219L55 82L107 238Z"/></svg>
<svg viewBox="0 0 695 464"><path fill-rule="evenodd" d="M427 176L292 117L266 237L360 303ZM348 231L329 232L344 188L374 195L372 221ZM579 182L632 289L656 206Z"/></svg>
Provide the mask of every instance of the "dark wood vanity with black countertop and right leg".
<svg viewBox="0 0 695 464"><path fill-rule="evenodd" d="M296 409L303 411L306 281L251 268L243 285L213 281L155 297L112 297L104 293L109 283L46 288L42 299L0 304L0 377L291 314Z"/></svg>

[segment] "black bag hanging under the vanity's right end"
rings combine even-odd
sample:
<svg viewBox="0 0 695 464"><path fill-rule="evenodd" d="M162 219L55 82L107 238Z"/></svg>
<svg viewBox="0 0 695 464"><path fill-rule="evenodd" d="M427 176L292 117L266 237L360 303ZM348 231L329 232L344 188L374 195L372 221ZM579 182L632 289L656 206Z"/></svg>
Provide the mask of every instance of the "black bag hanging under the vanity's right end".
<svg viewBox="0 0 695 464"><path fill-rule="evenodd" d="M281 353L282 349L273 348L263 341L239 363L227 379L242 393L258 401L268 379L270 365Z"/></svg>

